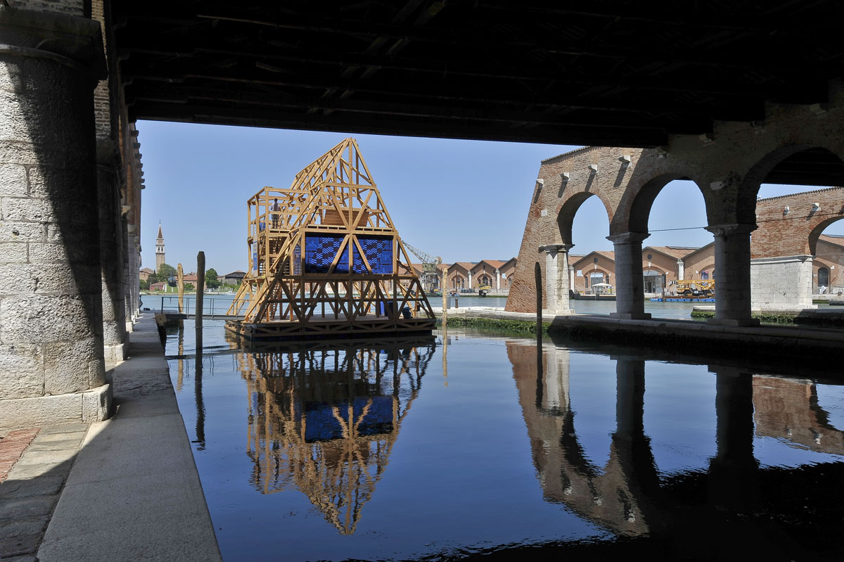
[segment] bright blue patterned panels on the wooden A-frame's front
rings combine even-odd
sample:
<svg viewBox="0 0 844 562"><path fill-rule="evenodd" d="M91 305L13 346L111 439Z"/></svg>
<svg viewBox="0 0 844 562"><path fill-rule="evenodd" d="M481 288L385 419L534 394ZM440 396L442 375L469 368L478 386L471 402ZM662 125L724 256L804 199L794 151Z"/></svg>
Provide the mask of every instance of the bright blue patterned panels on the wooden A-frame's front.
<svg viewBox="0 0 844 562"><path fill-rule="evenodd" d="M372 273L392 273L392 238L390 236L358 236L358 243L364 251ZM344 236L306 236L305 272L328 273L334 257L340 250ZM352 248L352 273L367 273L363 259L356 246ZM349 246L334 267L333 273L349 273Z"/></svg>

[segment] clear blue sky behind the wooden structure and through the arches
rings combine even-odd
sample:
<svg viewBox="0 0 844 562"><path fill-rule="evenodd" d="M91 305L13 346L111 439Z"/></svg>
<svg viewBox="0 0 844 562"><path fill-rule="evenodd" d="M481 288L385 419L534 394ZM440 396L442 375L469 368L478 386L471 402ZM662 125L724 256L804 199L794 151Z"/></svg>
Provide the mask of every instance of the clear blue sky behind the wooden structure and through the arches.
<svg viewBox="0 0 844 562"><path fill-rule="evenodd" d="M295 173L345 137L354 136L403 240L445 262L517 256L539 162L578 147L438 138L344 135L254 127L138 122L143 190L143 266L154 268L158 225L166 261L196 269L197 251L217 273L246 270L246 199L263 186L287 187ZM761 197L809 191L762 186ZM649 228L706 224L703 197L673 181L654 203ZM827 233L844 234L844 221ZM609 221L597 197L583 203L572 253L612 250ZM654 232L652 246L703 246L702 229Z"/></svg>

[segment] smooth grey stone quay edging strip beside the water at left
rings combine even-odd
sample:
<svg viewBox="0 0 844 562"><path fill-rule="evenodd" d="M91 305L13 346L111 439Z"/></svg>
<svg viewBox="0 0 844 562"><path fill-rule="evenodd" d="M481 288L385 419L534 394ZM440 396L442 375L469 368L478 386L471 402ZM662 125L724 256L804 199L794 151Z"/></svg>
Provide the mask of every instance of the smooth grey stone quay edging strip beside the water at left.
<svg viewBox="0 0 844 562"><path fill-rule="evenodd" d="M151 313L129 337L117 412L85 435L38 559L222 560Z"/></svg>

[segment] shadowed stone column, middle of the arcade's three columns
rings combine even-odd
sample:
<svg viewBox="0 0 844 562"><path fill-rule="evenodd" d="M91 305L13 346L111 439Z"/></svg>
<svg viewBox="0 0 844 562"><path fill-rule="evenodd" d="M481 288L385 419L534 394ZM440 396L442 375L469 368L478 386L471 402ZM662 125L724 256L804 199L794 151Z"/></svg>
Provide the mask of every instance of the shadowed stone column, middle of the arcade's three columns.
<svg viewBox="0 0 844 562"><path fill-rule="evenodd" d="M647 232L625 232L607 236L615 248L615 312L614 318L643 319L645 312L645 284L641 270L641 242Z"/></svg>

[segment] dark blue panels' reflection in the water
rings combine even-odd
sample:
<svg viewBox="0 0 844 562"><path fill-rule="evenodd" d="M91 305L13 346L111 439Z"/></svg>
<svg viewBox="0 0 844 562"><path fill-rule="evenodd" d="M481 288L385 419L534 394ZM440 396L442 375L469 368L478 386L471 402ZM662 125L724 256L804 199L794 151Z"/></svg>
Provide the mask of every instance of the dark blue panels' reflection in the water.
<svg viewBox="0 0 844 562"><path fill-rule="evenodd" d="M390 433L392 431L392 397L372 396L354 397L352 408L354 418L352 423L360 420L366 403L372 400L369 412L358 425L358 435L377 435ZM340 418L348 420L349 402L327 404L320 402L309 402L305 404L305 440L320 441L338 439L343 436L343 429L337 418L334 417L334 407L338 408Z"/></svg>

